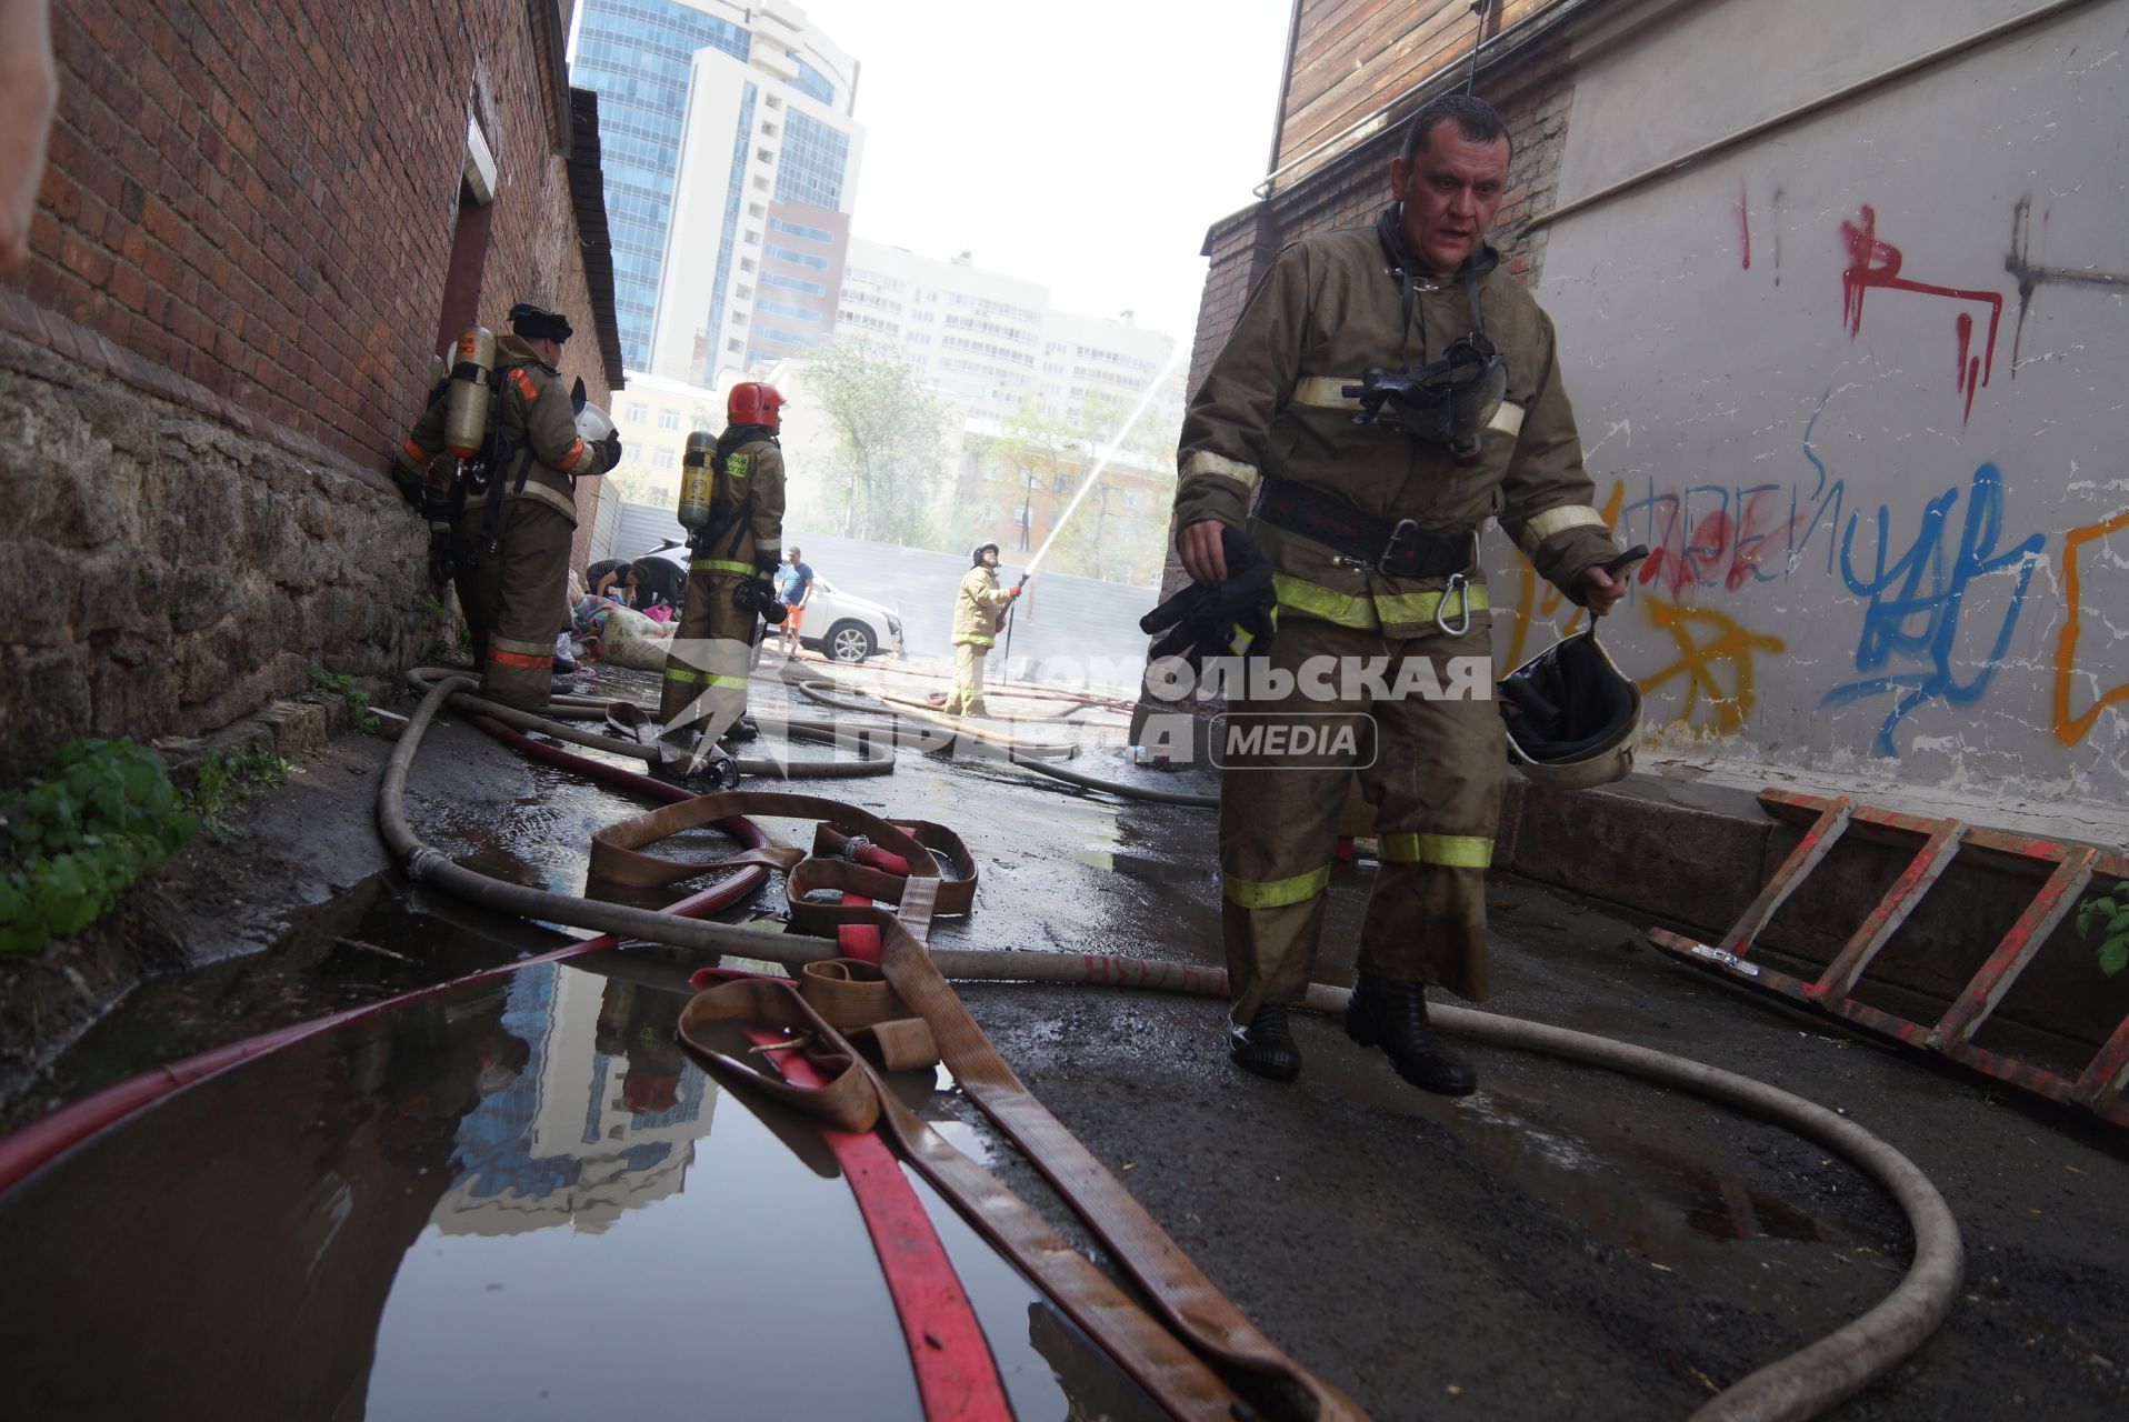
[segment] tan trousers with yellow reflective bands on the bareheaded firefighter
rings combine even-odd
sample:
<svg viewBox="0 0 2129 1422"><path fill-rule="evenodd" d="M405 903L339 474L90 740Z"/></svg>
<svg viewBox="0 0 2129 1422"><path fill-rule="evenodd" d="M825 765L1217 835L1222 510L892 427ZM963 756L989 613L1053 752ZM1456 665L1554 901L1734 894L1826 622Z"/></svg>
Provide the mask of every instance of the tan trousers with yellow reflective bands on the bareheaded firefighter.
<svg viewBox="0 0 2129 1422"><path fill-rule="evenodd" d="M1412 658L1431 662L1433 675L1414 675L1416 666L1405 673ZM1507 775L1492 692L1490 617L1475 613L1460 636L1429 628L1422 636L1392 641L1380 630L1288 611L1265 662L1267 681L1275 683L1284 671L1294 675L1292 688L1273 696L1231 694L1228 717L1216 722L1216 734L1233 751L1222 756L1220 777L1220 886L1235 1020L1248 1022L1265 1003L1297 1003L1307 990L1339 811L1356 773L1375 809L1380 845L1358 973L1484 1001L1486 866ZM1363 675L1369 664L1380 668L1390 696ZM1297 675L1309 666L1316 677ZM1429 694L1435 683L1443 696ZM1394 694L1399 690L1405 694ZM1305 737L1290 730L1280 737L1286 749L1273 754L1273 739L1262 730L1273 724L1335 730L1352 726L1354 713L1373 717L1371 764L1358 764L1369 749L1365 734L1354 747L1358 754L1322 747L1294 754L1292 743ZM1252 726L1258 728L1254 749Z"/></svg>

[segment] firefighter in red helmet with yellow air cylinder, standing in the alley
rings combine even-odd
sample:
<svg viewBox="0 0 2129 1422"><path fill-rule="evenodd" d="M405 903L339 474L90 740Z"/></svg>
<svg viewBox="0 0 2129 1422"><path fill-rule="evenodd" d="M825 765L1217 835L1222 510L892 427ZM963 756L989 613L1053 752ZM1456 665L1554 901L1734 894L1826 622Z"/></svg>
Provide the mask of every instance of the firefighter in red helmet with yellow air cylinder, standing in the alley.
<svg viewBox="0 0 2129 1422"><path fill-rule="evenodd" d="M771 579L783 562L783 404L775 385L741 381L724 404L724 434L688 436L677 509L690 534L688 596L658 702L669 745L758 734L747 662L760 619L781 622Z"/></svg>

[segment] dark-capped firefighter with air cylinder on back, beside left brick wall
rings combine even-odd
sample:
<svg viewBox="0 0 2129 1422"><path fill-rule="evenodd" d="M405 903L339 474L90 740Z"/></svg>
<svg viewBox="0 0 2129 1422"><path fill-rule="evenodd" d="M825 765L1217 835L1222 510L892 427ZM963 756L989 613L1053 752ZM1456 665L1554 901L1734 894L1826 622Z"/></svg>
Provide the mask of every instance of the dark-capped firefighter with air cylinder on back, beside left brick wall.
<svg viewBox="0 0 2129 1422"><path fill-rule="evenodd" d="M613 468L622 436L562 387L568 317L519 302L509 321L507 336L479 326L460 336L392 477L436 534L432 577L458 585L481 694L539 711L568 615L577 479Z"/></svg>

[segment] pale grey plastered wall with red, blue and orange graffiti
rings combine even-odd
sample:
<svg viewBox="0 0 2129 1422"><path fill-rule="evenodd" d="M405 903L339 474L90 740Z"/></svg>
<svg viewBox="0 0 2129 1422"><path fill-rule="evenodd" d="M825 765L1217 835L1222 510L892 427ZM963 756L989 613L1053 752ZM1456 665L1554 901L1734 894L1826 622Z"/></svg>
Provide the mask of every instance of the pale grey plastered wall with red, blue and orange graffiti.
<svg viewBox="0 0 2129 1422"><path fill-rule="evenodd" d="M1652 6L1654 9L1654 6ZM2035 0L1671 6L1573 55L1558 204ZM2129 2L1561 217L1607 641L1671 739L1980 796L2129 792ZM1492 536L1501 656L1565 622Z"/></svg>

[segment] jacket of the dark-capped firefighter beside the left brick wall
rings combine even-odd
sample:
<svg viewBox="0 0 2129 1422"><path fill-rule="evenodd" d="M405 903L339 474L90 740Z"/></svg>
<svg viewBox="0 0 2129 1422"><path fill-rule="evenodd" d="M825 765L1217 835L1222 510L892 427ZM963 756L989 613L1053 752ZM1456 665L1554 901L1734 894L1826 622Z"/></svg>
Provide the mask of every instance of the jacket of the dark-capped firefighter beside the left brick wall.
<svg viewBox="0 0 2129 1422"><path fill-rule="evenodd" d="M490 470L485 487L468 490L466 509L488 505L502 487L507 498L534 498L575 524L577 479L605 473L605 456L577 439L577 413L568 407L562 375L522 336L496 336L496 375L500 381L490 419L500 426L500 468ZM413 434L400 445L396 464L402 477L419 481L430 460L443 451L447 404L447 398L430 400Z"/></svg>

